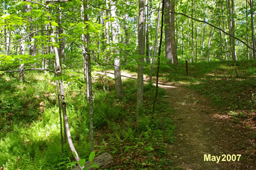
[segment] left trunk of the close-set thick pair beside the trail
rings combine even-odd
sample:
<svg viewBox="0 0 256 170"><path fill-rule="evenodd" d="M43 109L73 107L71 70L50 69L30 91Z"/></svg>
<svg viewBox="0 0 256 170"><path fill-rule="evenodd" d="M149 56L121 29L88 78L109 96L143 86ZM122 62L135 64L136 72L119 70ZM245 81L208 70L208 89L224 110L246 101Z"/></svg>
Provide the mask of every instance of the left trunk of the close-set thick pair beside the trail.
<svg viewBox="0 0 256 170"><path fill-rule="evenodd" d="M172 48L171 48L171 14L170 0L164 0L164 38L166 40L166 59L167 63L172 62Z"/></svg>

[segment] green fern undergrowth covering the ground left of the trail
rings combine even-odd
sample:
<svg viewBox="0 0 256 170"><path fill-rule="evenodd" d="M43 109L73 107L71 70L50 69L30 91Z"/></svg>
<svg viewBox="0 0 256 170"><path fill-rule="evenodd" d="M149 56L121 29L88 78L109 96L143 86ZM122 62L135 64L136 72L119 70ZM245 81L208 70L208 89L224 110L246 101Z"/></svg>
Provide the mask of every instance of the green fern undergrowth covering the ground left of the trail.
<svg viewBox="0 0 256 170"><path fill-rule="evenodd" d="M67 71L68 72L68 71ZM61 155L59 107L56 85L48 73L28 73L23 83L17 73L0 77L0 167L5 169L70 169L74 161L67 143ZM75 77L75 76L73 76ZM116 168L164 167L170 164L167 144L172 137L171 110L159 90L156 113L151 114L154 87L144 86L144 111L135 128L136 81L123 82L122 100L115 99L114 82L109 92L101 81L93 83L96 151L110 152ZM88 157L89 106L84 78L64 80L69 126L80 157ZM138 157L140 157L138 159Z"/></svg>

